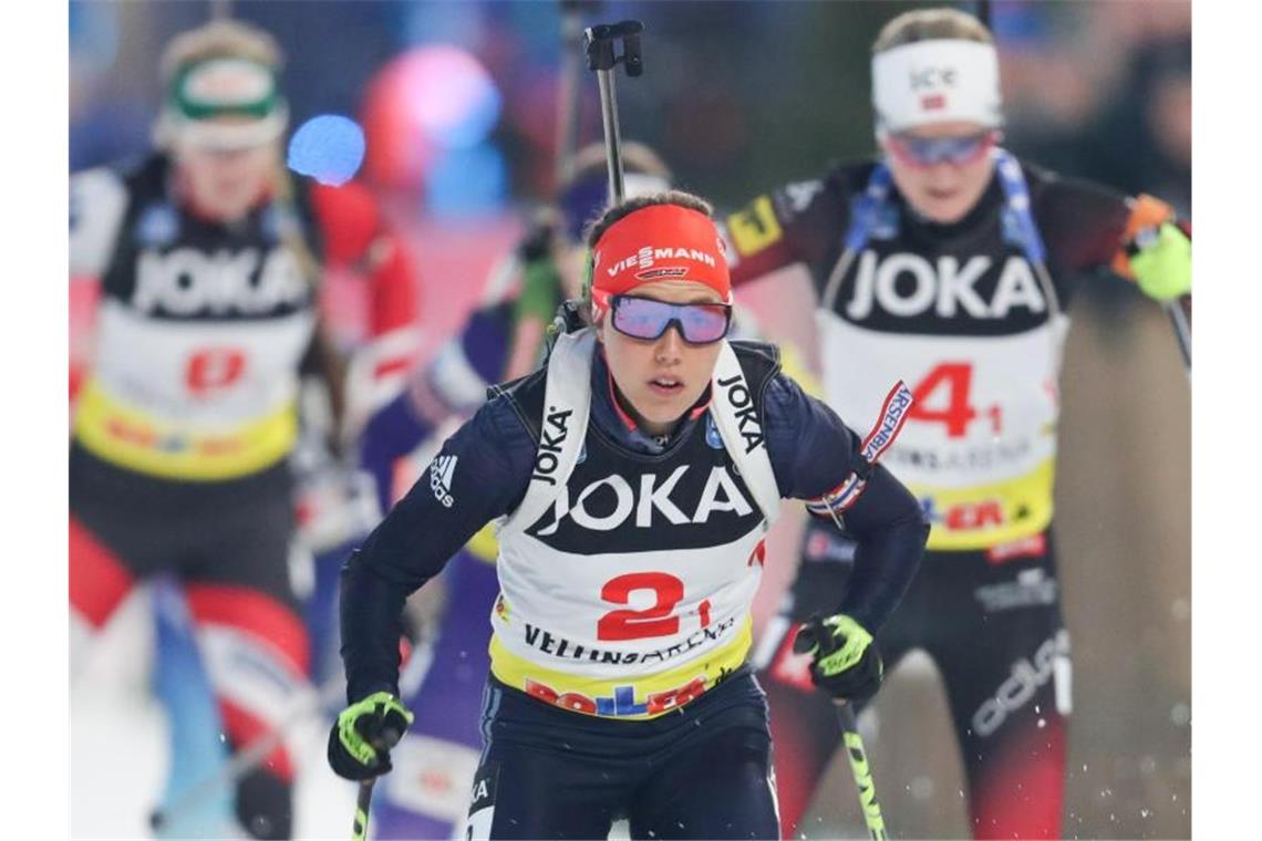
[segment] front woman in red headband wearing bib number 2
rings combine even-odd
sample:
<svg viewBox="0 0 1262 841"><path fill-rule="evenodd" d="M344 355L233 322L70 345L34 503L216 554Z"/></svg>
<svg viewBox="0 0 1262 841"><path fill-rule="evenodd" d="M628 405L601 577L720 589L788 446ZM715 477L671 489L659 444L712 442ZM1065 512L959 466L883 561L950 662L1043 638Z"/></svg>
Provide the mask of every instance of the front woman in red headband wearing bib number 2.
<svg viewBox="0 0 1262 841"><path fill-rule="evenodd" d="M781 498L846 511L858 572L819 620L810 670L838 697L866 697L881 673L871 633L926 536L875 463L905 393L861 440L780 373L775 347L728 342L727 257L695 197L631 199L588 245L591 327L492 388L346 565L350 706L329 764L351 779L390 770L385 734L411 720L403 603L496 519L464 837L599 838L617 817L634 837L780 837L766 705L746 666L764 538Z"/></svg>

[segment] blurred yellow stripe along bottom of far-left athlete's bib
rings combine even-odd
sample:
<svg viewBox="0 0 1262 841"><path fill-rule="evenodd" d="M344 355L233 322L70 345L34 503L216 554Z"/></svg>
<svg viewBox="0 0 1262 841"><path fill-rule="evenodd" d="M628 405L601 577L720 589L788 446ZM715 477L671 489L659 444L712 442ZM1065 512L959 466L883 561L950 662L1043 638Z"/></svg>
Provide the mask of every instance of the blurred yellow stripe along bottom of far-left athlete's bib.
<svg viewBox="0 0 1262 841"><path fill-rule="evenodd" d="M154 421L93 380L80 395L74 438L93 455L129 470L165 479L236 479L289 454L298 440L298 412L290 402L261 420L193 431Z"/></svg>

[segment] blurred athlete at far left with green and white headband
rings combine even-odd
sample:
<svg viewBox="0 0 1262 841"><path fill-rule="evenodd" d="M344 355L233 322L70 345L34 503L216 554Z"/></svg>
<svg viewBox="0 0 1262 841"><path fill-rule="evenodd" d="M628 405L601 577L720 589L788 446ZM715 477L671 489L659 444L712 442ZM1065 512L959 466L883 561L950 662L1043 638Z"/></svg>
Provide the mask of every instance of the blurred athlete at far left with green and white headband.
<svg viewBox="0 0 1262 841"><path fill-rule="evenodd" d="M285 170L280 67L249 25L183 33L162 62L158 151L71 182L72 280L100 285L91 358L72 372L72 656L134 585L174 575L233 750L309 692L289 456L304 371L342 409L322 271L366 275L381 378L411 361L416 306L408 252L372 199ZM290 837L293 777L278 746L239 780L242 831Z"/></svg>

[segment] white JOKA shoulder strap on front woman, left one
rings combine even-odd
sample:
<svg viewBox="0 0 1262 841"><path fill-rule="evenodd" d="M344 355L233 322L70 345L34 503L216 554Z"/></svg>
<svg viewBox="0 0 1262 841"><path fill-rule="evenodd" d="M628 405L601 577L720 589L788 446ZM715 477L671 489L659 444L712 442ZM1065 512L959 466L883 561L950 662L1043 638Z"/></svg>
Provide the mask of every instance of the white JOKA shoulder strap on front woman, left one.
<svg viewBox="0 0 1262 841"><path fill-rule="evenodd" d="M530 487L521 504L500 528L501 536L525 530L539 519L574 470L592 407L594 347L596 334L591 328L557 338L548 357L544 414L539 422L539 449L535 451Z"/></svg>

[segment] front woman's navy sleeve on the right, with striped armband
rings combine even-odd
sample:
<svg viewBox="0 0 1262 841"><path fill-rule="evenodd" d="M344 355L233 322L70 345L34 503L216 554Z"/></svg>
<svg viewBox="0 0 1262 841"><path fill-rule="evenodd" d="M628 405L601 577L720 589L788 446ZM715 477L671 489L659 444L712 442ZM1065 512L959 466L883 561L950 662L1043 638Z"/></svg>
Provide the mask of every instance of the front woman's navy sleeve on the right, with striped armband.
<svg viewBox="0 0 1262 841"><path fill-rule="evenodd" d="M907 591L929 538L920 504L893 474L863 459L862 440L832 409L787 376L777 374L767 387L765 417L781 496L827 506L825 494L852 474L867 475L844 512L846 531L857 546L839 612L876 633ZM823 518L832 522L827 512Z"/></svg>

